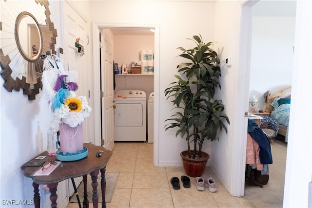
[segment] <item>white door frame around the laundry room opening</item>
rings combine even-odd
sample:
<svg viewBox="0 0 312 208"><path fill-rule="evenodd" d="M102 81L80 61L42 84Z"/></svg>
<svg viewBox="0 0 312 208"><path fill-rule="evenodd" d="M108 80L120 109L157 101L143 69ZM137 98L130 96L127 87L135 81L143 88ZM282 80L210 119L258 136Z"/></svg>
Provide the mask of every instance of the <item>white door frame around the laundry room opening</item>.
<svg viewBox="0 0 312 208"><path fill-rule="evenodd" d="M159 60L159 58L158 58L159 57L159 44L157 44L157 43L159 43L159 27L158 27L158 25L133 25L133 26L132 25L130 25L130 26L127 25L127 26L125 26L125 25L106 25L106 24L96 24L96 23L94 23L93 24L93 38L95 40L94 41L94 47L95 48L98 48L98 42L99 42L98 34L100 34L100 31L102 29L110 29L110 30L114 31L115 33L129 32L130 30L132 30L132 31L136 30L136 31L141 31L142 32L144 30L155 29L155 32L154 32L154 80L153 80L154 81L154 86L153 86L153 89L154 89L154 92L156 94L154 100L155 101L158 100L158 96L157 96L158 95L158 93L157 93L158 82L156 81L156 80L159 79L158 78L159 77L159 70L158 70L158 68L159 68L159 64L158 64L158 60ZM112 34L113 34L113 32L112 32ZM101 66L99 64L100 63L99 54L100 54L99 50L98 51L97 50L94 51L94 56L93 57L94 57L95 69L100 69L101 68ZM118 63L118 64L121 64L121 63ZM113 69L113 67L112 67L112 69ZM100 76L99 72L100 72L100 70L96 70L95 71L95 76L94 76L94 78L95 78L95 89L94 89L95 90L95 95L97 95L97 93L100 94L99 89L100 89L100 84L101 83L100 83L99 77L101 77L101 76ZM128 78L129 77L125 77L126 80ZM100 103L100 98L96 98L95 97L95 103ZM154 108L155 114L158 111L159 110L157 109L157 106L156 106L156 108ZM101 135L102 135L102 131L99 131L100 130L100 125L99 125L99 122L98 122L101 119L101 116L99 115L100 114L100 108L99 109L98 108L95 109L95 114L97 115L96 118L95 118L96 119L95 123L98 126L98 128L97 127L95 128L96 129L95 134L96 134L96 138L100 138ZM154 120L157 120L157 119L158 119L158 117L155 116ZM154 122L154 129L155 130L158 128L157 123L158 122ZM105 130L103 130L103 132L105 132ZM158 136L157 136L157 134L158 134L157 132L158 131L154 131L154 132L155 132L154 133L154 165L157 166L158 165L158 159L156 159L156 158L158 158L158 151L156 151L156 150L158 150L158 148L157 148L158 147L158 140L156 138L158 138ZM96 141L95 143L100 145L101 141Z"/></svg>

